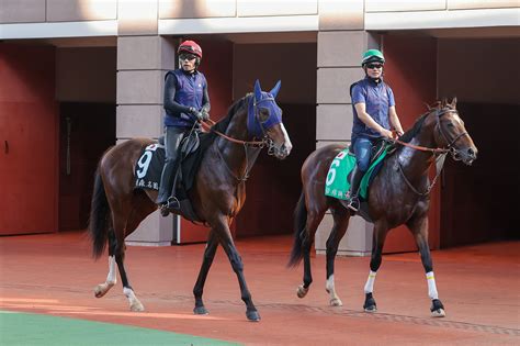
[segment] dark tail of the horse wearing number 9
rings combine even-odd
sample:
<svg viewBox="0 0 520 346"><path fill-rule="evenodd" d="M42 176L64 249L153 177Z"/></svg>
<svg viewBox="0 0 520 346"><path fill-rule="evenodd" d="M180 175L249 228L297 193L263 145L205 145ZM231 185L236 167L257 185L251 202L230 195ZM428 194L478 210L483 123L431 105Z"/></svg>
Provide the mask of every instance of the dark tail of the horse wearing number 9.
<svg viewBox="0 0 520 346"><path fill-rule="evenodd" d="M92 241L92 256L101 257L106 247L108 227L110 217L110 205L106 200L103 179L101 179L100 170L95 171L94 191L92 194L92 207L90 210L89 232Z"/></svg>

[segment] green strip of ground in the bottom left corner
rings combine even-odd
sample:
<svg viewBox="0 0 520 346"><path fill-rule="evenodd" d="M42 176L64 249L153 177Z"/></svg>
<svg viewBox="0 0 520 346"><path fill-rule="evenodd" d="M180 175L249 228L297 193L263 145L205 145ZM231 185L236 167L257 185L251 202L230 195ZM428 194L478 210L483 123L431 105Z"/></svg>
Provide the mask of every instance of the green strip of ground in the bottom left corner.
<svg viewBox="0 0 520 346"><path fill-rule="evenodd" d="M112 323L0 311L0 345L92 346L239 344Z"/></svg>

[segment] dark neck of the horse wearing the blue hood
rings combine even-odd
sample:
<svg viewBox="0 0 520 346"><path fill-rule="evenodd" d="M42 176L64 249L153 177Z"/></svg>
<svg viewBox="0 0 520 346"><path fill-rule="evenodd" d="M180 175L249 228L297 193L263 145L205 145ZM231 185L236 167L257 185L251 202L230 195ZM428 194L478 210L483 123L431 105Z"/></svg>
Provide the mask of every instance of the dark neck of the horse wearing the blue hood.
<svg viewBox="0 0 520 346"><path fill-rule="evenodd" d="M250 139L247 130L247 110L246 102L233 116L225 132L228 137L245 142ZM239 178L245 178L244 176L249 174L248 170L251 169L260 154L260 148L251 148L250 146L234 143L223 137L218 138L216 145L226 165Z"/></svg>

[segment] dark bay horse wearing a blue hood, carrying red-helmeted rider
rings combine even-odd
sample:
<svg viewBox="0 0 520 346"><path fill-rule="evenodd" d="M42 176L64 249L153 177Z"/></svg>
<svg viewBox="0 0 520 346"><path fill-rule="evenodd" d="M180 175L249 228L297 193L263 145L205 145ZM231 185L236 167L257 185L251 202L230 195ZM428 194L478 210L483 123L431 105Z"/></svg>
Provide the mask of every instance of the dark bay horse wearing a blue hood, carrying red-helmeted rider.
<svg viewBox="0 0 520 346"><path fill-rule="evenodd" d="M204 282L221 244L237 275L241 299L246 303L247 319L259 321L257 308L246 284L244 266L233 242L229 225L246 200L246 179L260 149L285 158L292 148L282 123L282 111L275 102L280 81L270 91L260 89L235 102L225 119L213 126L219 133L206 149L193 188L188 192L193 210L211 231L203 263L193 288L195 314L207 314L202 300ZM253 141L253 139L260 141ZM115 284L117 269L123 281L123 292L132 311L144 306L132 289L124 267L125 237L157 207L157 191L135 189L134 168L144 148L156 143L152 139L131 139L109 149L101 158L95 175L94 193L90 216L90 234L93 255L99 258L109 247L109 275L106 281L94 289L101 298ZM116 268L117 266L117 268Z"/></svg>

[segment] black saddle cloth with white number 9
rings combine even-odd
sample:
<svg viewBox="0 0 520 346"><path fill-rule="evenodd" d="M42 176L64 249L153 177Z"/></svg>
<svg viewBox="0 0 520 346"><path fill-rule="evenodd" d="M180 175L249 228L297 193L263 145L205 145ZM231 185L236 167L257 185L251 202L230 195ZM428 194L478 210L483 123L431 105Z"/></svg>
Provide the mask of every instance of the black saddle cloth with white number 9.
<svg viewBox="0 0 520 346"><path fill-rule="evenodd" d="M159 190L160 176L165 166L165 146L148 145L135 165L135 188Z"/></svg>

